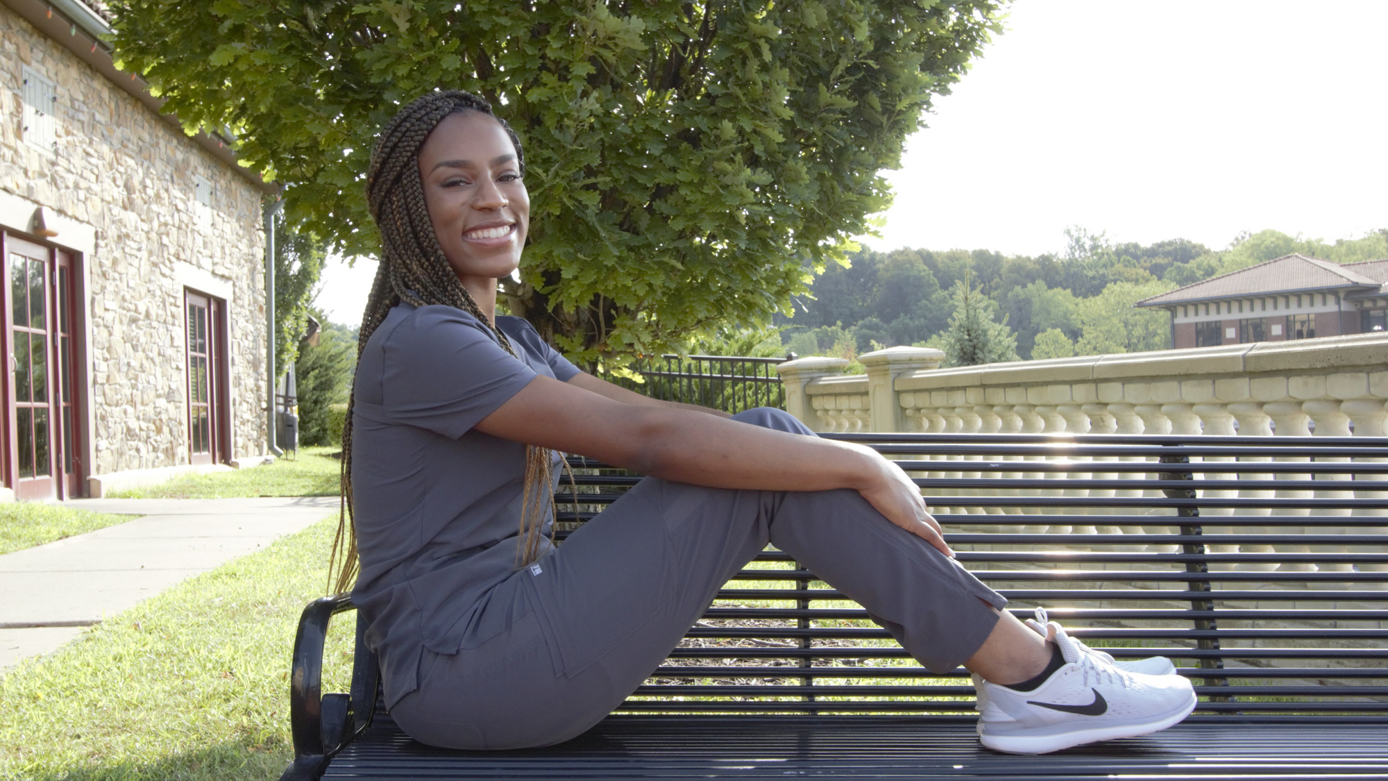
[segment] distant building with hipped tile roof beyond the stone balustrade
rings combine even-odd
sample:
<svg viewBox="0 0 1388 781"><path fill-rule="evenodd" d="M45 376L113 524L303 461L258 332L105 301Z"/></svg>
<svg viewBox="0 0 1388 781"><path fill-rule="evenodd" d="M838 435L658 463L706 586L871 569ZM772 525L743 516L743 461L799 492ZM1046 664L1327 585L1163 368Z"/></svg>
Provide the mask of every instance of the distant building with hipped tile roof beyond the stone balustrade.
<svg viewBox="0 0 1388 781"><path fill-rule="evenodd" d="M1388 260L1288 254L1138 302L1171 313L1171 345L1209 347L1388 329Z"/></svg>

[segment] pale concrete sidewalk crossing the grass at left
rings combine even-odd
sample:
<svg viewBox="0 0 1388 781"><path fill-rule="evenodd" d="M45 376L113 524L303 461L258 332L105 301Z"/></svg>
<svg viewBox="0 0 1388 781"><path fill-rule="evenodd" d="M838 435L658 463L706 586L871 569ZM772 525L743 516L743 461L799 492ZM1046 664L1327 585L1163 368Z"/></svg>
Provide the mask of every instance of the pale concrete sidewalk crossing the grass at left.
<svg viewBox="0 0 1388 781"><path fill-rule="evenodd" d="M0 668L56 650L143 599L254 553L337 509L336 496L74 499L135 520L0 556Z"/></svg>

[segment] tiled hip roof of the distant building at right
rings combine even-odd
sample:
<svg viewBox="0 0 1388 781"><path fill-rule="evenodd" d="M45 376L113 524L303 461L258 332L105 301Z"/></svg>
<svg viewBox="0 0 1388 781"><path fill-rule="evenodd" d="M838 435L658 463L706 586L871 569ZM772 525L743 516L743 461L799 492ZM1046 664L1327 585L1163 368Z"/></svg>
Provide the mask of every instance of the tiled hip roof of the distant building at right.
<svg viewBox="0 0 1388 781"><path fill-rule="evenodd" d="M1385 282L1388 282L1388 261L1341 265L1303 254L1288 254L1152 296L1138 302L1137 306L1167 306L1295 290L1377 289Z"/></svg>

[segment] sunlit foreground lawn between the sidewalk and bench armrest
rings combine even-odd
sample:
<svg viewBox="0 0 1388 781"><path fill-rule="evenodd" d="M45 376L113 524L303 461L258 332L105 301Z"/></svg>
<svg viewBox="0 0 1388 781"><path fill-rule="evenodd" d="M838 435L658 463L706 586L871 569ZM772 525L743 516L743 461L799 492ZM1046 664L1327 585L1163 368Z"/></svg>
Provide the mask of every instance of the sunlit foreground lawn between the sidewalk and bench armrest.
<svg viewBox="0 0 1388 781"><path fill-rule="evenodd" d="M189 579L0 677L0 778L273 780L289 764L289 661L323 593L336 521ZM350 684L351 616L323 691Z"/></svg>

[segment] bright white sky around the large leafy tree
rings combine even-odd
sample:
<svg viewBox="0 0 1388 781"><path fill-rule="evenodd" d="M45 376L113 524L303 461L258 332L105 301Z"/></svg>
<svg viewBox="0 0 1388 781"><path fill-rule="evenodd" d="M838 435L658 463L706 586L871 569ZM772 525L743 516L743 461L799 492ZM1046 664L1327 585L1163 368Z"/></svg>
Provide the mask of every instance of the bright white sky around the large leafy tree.
<svg viewBox="0 0 1388 781"><path fill-rule="evenodd" d="M895 203L865 246L1388 227L1388 1L1019 0L1005 26L886 174ZM316 304L355 325L373 274L329 261Z"/></svg>

